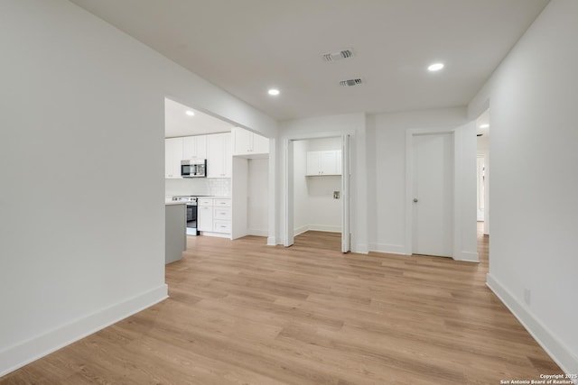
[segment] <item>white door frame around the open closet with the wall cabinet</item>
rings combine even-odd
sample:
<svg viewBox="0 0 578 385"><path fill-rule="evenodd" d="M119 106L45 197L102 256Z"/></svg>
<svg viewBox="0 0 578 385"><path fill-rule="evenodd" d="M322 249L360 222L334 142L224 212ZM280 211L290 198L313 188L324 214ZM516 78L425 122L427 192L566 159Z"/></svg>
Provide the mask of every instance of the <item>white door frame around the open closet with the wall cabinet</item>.
<svg viewBox="0 0 578 385"><path fill-rule="evenodd" d="M350 137L352 133L312 133L310 135L303 135L299 137L284 138L283 140L283 150L284 150L284 237L283 244L285 247L289 247L294 243L294 192L293 192L293 180L290 178L294 177L293 167L293 142L294 141L306 141L309 139L322 139L322 138L341 138L341 149L345 151L345 147L350 151ZM346 139L347 138L347 139ZM344 142L348 142L346 146ZM350 234L347 234L347 241L344 242L344 237L346 236L346 231L350 233L350 183L349 176L351 170L351 157L350 153L345 154L341 152L341 251L350 252ZM348 173L347 182L344 183L343 174ZM347 188L345 190L344 188ZM347 205L347 207L346 207ZM347 227L347 228L346 228Z"/></svg>

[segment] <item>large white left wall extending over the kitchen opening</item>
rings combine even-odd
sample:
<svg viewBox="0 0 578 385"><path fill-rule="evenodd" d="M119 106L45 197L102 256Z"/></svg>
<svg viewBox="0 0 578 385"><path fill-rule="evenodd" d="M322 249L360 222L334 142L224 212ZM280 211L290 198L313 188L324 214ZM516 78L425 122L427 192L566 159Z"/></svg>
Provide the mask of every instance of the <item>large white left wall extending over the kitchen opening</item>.
<svg viewBox="0 0 578 385"><path fill-rule="evenodd" d="M64 0L0 2L0 375L165 298L164 97L273 119Z"/></svg>

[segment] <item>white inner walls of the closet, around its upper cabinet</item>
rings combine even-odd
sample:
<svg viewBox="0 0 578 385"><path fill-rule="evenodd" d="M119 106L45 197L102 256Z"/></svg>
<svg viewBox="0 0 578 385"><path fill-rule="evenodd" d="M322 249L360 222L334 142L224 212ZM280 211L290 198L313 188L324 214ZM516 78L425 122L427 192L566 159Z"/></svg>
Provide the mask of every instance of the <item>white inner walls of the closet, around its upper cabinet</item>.
<svg viewBox="0 0 578 385"><path fill-rule="evenodd" d="M341 138L294 142L294 234L307 230L341 232L341 177L306 177L307 151L341 150Z"/></svg>

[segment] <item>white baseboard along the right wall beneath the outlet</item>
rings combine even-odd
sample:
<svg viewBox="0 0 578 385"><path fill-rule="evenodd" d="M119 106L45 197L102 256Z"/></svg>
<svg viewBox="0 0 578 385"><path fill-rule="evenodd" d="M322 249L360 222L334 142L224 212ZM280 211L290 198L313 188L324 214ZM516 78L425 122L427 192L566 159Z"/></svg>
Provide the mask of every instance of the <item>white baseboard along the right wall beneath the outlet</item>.
<svg viewBox="0 0 578 385"><path fill-rule="evenodd" d="M578 373L578 356L560 341L550 329L532 314L530 309L518 301L512 293L502 285L494 276L486 276L486 285L508 307L509 311L516 316L536 342L544 348L545 353L560 366L565 373Z"/></svg>

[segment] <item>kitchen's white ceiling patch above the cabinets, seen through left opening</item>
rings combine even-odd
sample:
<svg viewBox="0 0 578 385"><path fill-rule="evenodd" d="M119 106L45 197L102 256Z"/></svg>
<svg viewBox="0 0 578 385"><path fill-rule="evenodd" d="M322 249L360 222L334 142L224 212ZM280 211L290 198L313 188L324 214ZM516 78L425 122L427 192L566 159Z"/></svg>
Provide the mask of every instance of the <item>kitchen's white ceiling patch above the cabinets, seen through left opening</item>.
<svg viewBox="0 0 578 385"><path fill-rule="evenodd" d="M187 115L191 111L194 115ZM164 137L226 133L233 126L171 99L164 99Z"/></svg>

